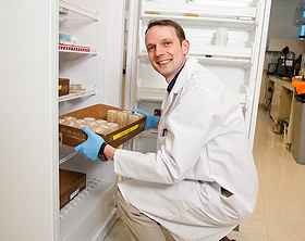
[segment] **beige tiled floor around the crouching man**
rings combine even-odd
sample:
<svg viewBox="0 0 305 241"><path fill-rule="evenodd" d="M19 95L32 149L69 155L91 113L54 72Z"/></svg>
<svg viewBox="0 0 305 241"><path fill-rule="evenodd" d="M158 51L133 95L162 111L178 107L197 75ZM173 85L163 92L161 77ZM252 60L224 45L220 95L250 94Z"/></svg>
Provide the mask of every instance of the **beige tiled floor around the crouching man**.
<svg viewBox="0 0 305 241"><path fill-rule="evenodd" d="M305 241L305 165L294 161L281 135L272 134L265 111L258 112L254 158L259 176L257 207L240 225L240 231L228 237L237 241ZM122 218L103 240L130 240Z"/></svg>

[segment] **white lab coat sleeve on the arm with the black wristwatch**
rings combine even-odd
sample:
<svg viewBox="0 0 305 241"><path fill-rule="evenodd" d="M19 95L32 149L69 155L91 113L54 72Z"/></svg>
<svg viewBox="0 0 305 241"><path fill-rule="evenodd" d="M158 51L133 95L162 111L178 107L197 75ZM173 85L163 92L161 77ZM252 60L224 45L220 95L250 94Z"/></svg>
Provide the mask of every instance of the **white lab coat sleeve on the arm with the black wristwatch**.
<svg viewBox="0 0 305 241"><path fill-rule="evenodd" d="M219 98L199 85L182 91L176 101L164 119L168 135L159 137L157 153L118 150L114 154L118 175L168 185L187 177L204 145L221 132L223 113ZM204 176L202 179L208 178L208 169Z"/></svg>

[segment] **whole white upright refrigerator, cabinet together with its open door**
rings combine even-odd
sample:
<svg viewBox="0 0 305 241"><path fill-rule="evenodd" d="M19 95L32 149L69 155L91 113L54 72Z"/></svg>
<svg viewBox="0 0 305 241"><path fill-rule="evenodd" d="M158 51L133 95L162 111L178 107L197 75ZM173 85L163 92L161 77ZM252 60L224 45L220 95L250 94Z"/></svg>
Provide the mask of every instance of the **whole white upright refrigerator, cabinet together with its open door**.
<svg viewBox="0 0 305 241"><path fill-rule="evenodd" d="M59 2L4 0L0 3L0 240L101 240L115 219L112 163L101 164L72 155L59 164L59 160L73 154L73 150L59 147L58 115L96 103L120 105L125 1L69 1L97 13L97 22L77 14L72 14L69 20L59 17ZM249 139L253 141L268 27L263 22L269 21L270 0L197 0L197 4L206 4L200 9L195 3L186 3L186 0L167 2L171 4L130 1L125 109L133 110L137 105L151 111L160 105L166 84L151 69L143 46L147 21L158 16L144 12L145 8L147 11L166 11L162 14L170 14L183 26L194 26L190 29L186 27L192 55L212 71L221 67L225 76L237 76L229 79L228 85L232 84L232 90L244 106ZM173 2L178 8L173 9ZM246 13L252 20L223 20L224 16L229 17L228 7L222 8L223 4L233 4L234 14ZM174 16L176 13L181 15L185 9L187 13L200 10L198 14L203 12L207 15L195 21L192 18L191 22L188 17ZM228 25L229 36L235 39L229 41L228 48L219 49L210 45L212 34L220 25ZM199 35L196 28L203 29ZM59 53L59 33L77 37L80 45L90 46L98 54ZM203 55L206 52L217 58L207 60ZM229 59L223 58L223 53ZM235 58L241 60L235 61ZM96 94L59 103L58 77L80 81ZM154 134L146 132L143 137L148 145L154 145ZM145 152L147 144L142 147L142 142L138 142L136 149ZM59 212L59 167L85 172L102 180L89 198L62 220Z"/></svg>

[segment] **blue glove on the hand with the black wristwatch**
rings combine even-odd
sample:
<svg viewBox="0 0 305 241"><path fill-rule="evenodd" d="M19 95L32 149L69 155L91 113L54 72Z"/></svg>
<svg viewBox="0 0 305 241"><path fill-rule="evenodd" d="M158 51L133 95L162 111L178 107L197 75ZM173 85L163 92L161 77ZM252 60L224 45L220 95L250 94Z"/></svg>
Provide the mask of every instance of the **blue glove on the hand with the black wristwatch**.
<svg viewBox="0 0 305 241"><path fill-rule="evenodd" d="M85 158L98 160L98 152L105 140L87 127L82 127L82 130L88 138L85 142L75 147L74 151L83 154Z"/></svg>

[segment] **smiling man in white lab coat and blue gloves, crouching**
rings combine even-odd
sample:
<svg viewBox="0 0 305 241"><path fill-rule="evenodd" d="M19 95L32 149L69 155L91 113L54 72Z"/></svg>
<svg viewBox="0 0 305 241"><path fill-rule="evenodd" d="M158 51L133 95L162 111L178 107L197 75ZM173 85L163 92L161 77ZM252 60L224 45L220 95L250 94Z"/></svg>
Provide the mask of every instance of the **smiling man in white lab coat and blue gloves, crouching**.
<svg viewBox="0 0 305 241"><path fill-rule="evenodd" d="M164 240L160 225L176 240L229 240L254 212L258 189L241 106L196 59L186 61L190 42L175 22L150 22L145 43L169 84L161 118L146 113L145 128L158 128L157 152L115 150L86 128L88 140L75 150L114 160L129 178L117 200L132 240Z"/></svg>

